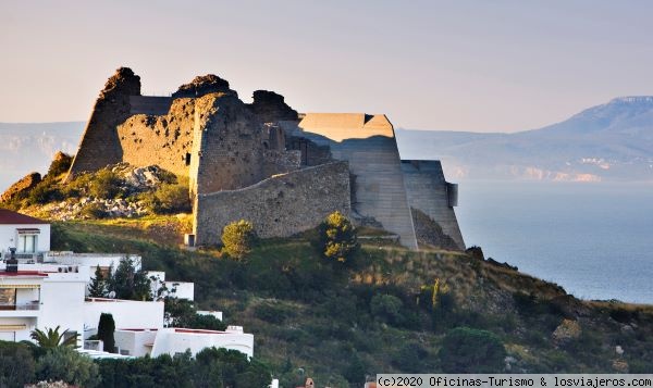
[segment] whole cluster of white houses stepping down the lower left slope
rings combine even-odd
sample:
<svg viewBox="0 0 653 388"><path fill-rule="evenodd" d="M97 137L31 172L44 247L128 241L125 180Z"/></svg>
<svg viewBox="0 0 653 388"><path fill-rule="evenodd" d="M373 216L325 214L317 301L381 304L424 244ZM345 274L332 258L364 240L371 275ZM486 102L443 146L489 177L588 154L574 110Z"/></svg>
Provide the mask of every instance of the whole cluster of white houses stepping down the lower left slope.
<svg viewBox="0 0 653 388"><path fill-rule="evenodd" d="M32 236L32 237L26 237ZM19 245L14 245L15 242ZM22 247L20 246L22 243ZM10 248L17 248L13 254ZM60 333L79 335L83 348L97 334L102 313L115 322L115 346L122 355L183 353L195 355L207 347L238 350L254 354L254 336L239 326L224 331L164 327L164 303L110 298L87 298L89 281L101 270L118 267L122 253L50 252L50 225L41 220L16 212L0 210L0 340L30 340L32 330L60 327ZM130 255L136 270L141 258ZM165 280L164 272L149 272L155 288L165 286L177 298L193 300L195 285L188 281ZM155 289L153 289L155 290ZM201 312L222 318L217 311ZM89 343L90 345L90 343ZM114 356L102 352L95 341L94 349L79 349L94 358Z"/></svg>

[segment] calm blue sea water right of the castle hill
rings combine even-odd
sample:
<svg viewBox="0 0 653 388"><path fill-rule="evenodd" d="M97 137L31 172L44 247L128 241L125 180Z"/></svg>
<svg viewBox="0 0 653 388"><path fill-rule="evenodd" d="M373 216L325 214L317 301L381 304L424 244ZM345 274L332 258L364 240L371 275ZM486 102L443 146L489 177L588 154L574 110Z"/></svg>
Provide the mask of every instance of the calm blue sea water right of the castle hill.
<svg viewBox="0 0 653 388"><path fill-rule="evenodd" d="M467 246L582 299L653 303L653 185L460 183Z"/></svg>

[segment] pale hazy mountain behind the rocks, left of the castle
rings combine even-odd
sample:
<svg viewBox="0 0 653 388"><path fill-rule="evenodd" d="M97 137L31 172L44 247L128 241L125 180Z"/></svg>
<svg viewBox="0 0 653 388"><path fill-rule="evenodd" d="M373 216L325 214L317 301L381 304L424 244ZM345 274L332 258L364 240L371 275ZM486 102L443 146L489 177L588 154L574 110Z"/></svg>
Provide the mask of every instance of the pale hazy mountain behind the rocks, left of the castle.
<svg viewBox="0 0 653 388"><path fill-rule="evenodd" d="M46 173L57 151L76 152L84 124L0 123L0 191L29 172Z"/></svg>

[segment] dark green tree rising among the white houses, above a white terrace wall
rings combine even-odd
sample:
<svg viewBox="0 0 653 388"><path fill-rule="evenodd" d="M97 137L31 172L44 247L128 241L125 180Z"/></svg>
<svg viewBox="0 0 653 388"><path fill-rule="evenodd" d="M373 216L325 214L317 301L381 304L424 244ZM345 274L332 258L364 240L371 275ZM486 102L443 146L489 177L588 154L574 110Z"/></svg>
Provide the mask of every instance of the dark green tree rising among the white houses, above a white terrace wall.
<svg viewBox="0 0 653 388"><path fill-rule="evenodd" d="M110 277L109 290L115 292L116 299L151 300L150 283L145 271L136 271L134 261L126 256Z"/></svg>

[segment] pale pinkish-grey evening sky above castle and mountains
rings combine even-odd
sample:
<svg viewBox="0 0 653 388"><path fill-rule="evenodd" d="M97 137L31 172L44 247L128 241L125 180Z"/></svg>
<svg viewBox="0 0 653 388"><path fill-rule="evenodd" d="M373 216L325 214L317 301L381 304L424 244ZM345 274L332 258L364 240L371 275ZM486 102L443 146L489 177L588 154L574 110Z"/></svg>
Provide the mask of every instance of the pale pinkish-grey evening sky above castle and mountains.
<svg viewBox="0 0 653 388"><path fill-rule="evenodd" d="M128 66L144 95L213 73L246 102L516 132L653 95L651 37L645 0L2 0L0 122L86 121Z"/></svg>

